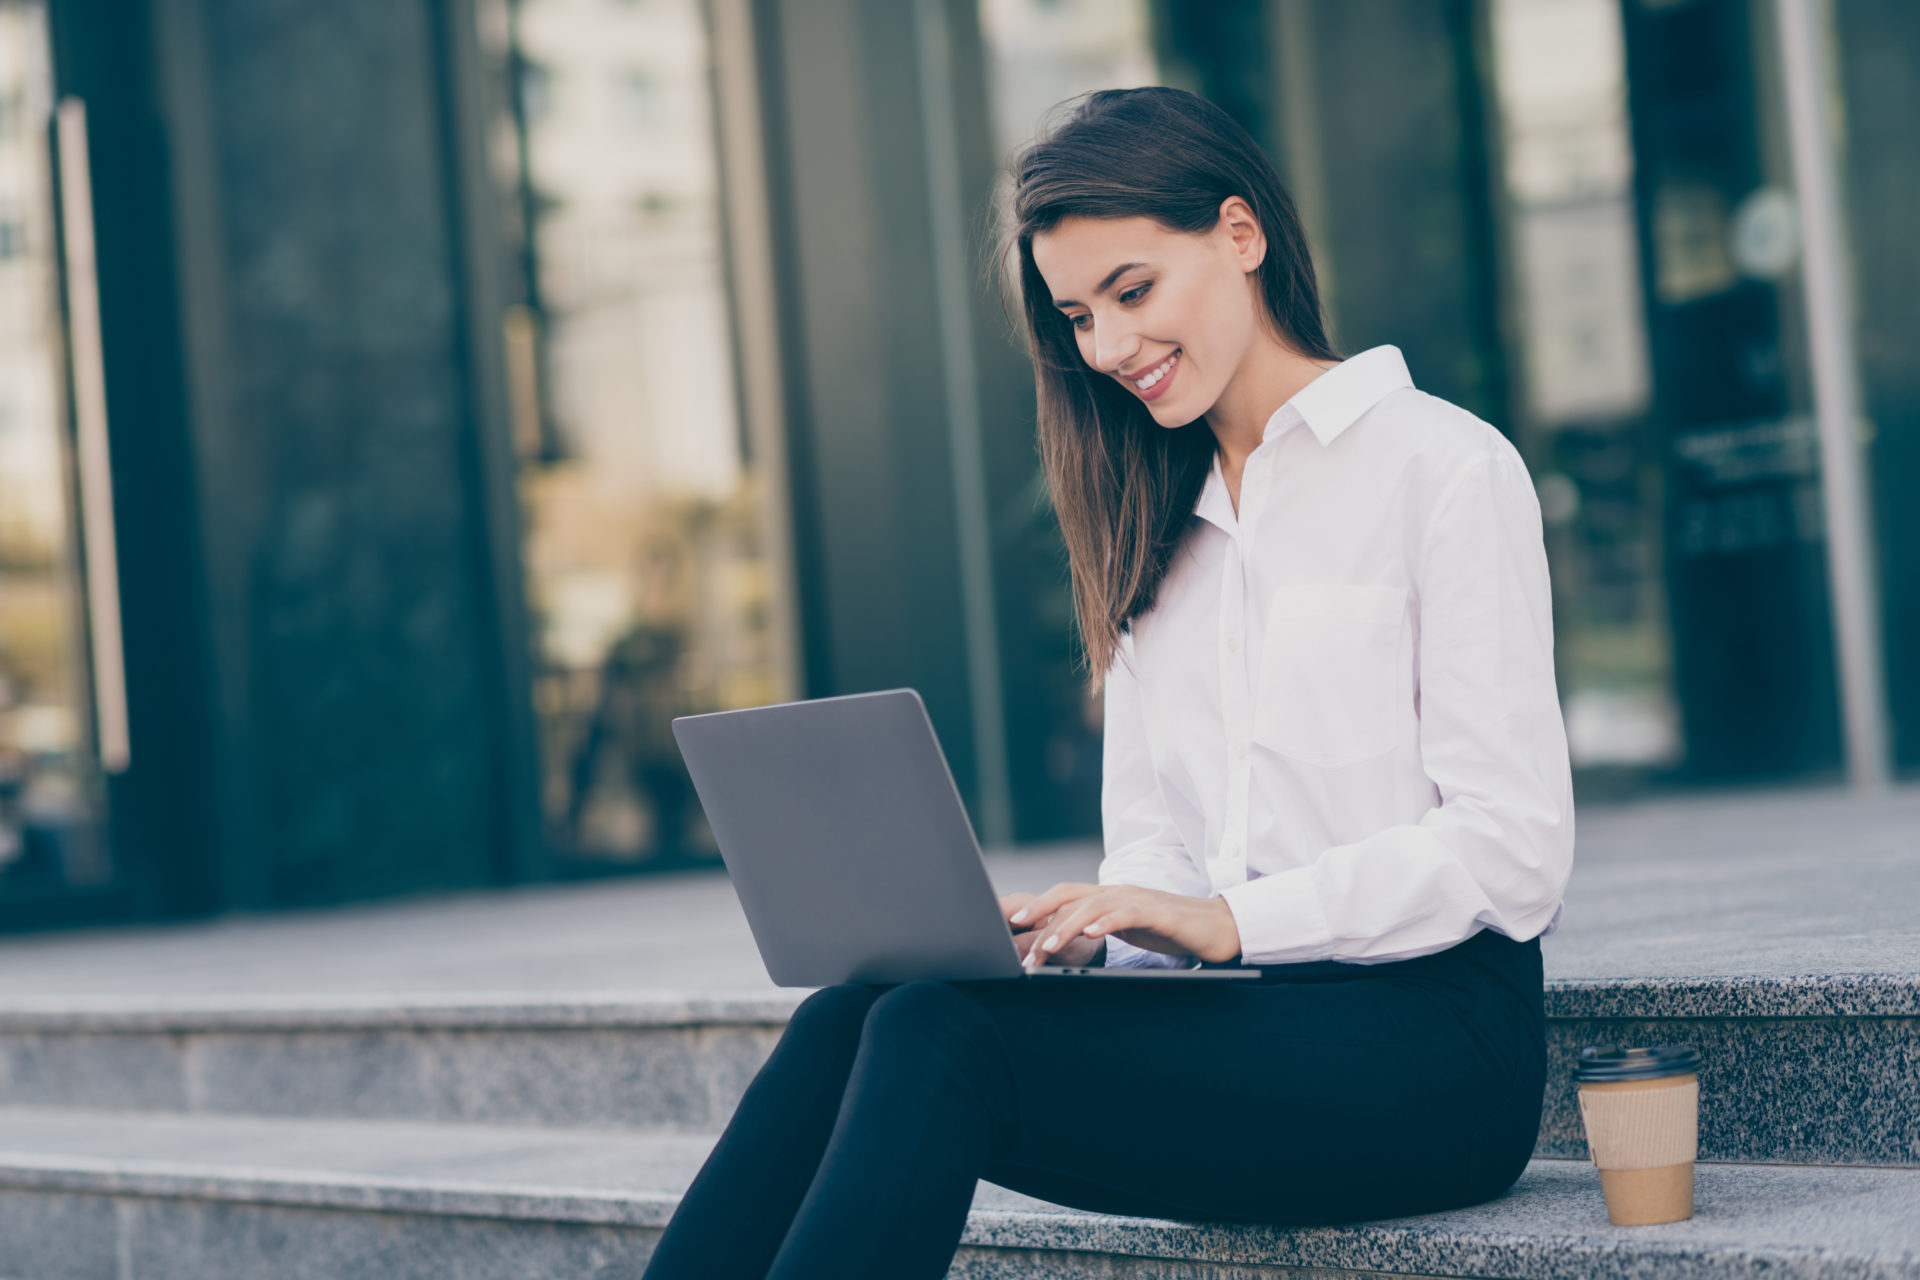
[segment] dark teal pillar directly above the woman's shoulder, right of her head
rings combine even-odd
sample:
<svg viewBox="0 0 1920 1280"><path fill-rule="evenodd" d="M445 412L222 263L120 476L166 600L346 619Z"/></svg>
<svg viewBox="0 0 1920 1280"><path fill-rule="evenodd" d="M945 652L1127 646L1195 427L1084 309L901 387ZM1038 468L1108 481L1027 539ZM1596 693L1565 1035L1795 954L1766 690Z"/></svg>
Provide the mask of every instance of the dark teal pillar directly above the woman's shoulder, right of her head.
<svg viewBox="0 0 1920 1280"><path fill-rule="evenodd" d="M1511 434L1473 6L1281 0L1263 13L1267 132L1334 344L1398 345L1421 390Z"/></svg>

